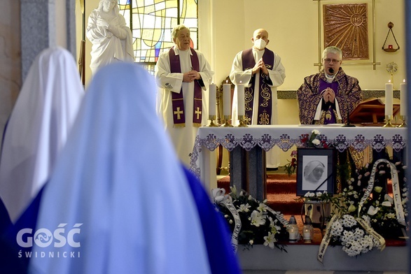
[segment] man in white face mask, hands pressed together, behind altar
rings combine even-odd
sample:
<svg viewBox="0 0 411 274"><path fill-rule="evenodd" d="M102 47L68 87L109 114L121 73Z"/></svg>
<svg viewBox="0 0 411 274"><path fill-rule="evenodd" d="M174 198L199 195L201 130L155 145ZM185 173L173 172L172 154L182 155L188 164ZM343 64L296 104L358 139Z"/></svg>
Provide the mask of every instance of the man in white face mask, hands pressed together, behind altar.
<svg viewBox="0 0 411 274"><path fill-rule="evenodd" d="M256 29L253 47L238 52L232 62L230 80L236 85L232 99L232 121L238 123L237 85L244 84L246 124L277 124L277 87L286 78L286 69L277 53L265 48L270 42L265 29ZM278 168L277 147L267 152L267 168Z"/></svg>

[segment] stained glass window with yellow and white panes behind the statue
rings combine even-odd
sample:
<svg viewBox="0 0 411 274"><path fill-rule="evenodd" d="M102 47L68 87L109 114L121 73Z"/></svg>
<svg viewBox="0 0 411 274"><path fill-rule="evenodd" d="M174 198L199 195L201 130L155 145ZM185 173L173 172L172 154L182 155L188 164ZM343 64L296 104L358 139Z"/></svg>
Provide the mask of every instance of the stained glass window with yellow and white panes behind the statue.
<svg viewBox="0 0 411 274"><path fill-rule="evenodd" d="M177 24L190 29L197 49L198 0L118 0L120 13L132 30L134 62L154 67L160 54L174 45L172 30ZM154 70L154 69L153 69Z"/></svg>

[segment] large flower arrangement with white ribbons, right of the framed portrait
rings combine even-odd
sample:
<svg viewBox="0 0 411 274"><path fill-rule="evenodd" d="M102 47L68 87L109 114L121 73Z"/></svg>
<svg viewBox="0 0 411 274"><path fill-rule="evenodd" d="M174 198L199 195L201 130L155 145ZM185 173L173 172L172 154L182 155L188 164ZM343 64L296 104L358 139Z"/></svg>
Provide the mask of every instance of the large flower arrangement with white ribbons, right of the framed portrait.
<svg viewBox="0 0 411 274"><path fill-rule="evenodd" d="M391 168L398 171L398 180L393 186L398 187L400 199L394 201L389 195L387 180L391 177ZM335 215L329 229L330 245L342 245L342 250L349 256L357 256L372 250L382 249L384 239L399 236L406 228L408 189L402 163L393 164L388 160L378 160L372 166L367 164L347 182L342 193L331 199ZM395 174L395 172L393 173ZM395 203L400 203L398 214Z"/></svg>

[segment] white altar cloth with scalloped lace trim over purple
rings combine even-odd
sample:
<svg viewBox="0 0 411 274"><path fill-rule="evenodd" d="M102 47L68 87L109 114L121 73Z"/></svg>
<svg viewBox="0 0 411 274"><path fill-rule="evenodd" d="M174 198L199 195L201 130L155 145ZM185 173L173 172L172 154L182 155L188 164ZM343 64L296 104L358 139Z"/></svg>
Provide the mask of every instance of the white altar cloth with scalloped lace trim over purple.
<svg viewBox="0 0 411 274"><path fill-rule="evenodd" d="M392 147L400 152L407 143L405 127L336 127L331 125L256 125L249 127L200 127L197 132L190 170L211 190L216 188L216 154L218 145L232 151L240 145L249 151L257 145L263 150L271 150L277 145L287 151L293 145L300 145L304 134L311 134L314 129L320 131L321 140L332 144L338 151L354 147L363 151L367 147L380 152L385 147Z"/></svg>

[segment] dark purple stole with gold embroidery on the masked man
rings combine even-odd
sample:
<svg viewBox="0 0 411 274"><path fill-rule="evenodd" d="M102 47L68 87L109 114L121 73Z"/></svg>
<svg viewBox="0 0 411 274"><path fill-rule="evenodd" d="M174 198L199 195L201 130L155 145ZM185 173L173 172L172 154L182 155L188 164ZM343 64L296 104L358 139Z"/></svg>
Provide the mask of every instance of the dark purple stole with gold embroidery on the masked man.
<svg viewBox="0 0 411 274"><path fill-rule="evenodd" d="M263 61L267 69L272 70L274 67L274 52L265 48L263 54ZM254 60L253 50L244 50L242 52L242 67L243 71L246 69L251 69L256 65ZM244 89L244 110L246 115L246 124L251 124L251 119L253 117L253 103L254 98L256 97L257 90L258 92L258 119L257 124L271 124L271 115L272 115L272 92L271 87L268 85L270 82L270 77L260 73L260 87L256 88L256 74L251 78L251 86Z"/></svg>

